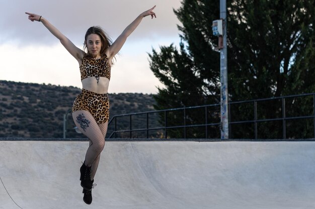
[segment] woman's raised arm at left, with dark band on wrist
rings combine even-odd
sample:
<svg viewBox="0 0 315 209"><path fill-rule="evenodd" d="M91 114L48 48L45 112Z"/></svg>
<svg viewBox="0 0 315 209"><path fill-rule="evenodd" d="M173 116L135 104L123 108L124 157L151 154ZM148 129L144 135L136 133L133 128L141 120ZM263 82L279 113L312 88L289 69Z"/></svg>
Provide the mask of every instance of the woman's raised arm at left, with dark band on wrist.
<svg viewBox="0 0 315 209"><path fill-rule="evenodd" d="M43 25L54 35L57 39L60 40L60 43L64 46L64 48L79 62L82 62L84 51L77 48L67 37L65 37L56 27L51 25L45 18L42 16L32 14L32 13L25 13L29 15L29 20L32 22L38 21L42 22Z"/></svg>

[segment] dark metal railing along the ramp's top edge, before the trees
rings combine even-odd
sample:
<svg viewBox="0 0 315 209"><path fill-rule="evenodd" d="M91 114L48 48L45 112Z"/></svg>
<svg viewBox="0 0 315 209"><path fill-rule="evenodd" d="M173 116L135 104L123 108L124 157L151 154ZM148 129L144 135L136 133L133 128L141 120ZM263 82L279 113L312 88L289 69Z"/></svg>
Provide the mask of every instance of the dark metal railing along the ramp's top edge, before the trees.
<svg viewBox="0 0 315 209"><path fill-rule="evenodd" d="M311 99L309 99L309 97L312 97ZM290 106L292 106L294 103L298 103L297 100L298 98L302 98L302 101L306 101L311 100L311 104L306 104L303 108L306 108L310 111L308 111L308 113L305 114L301 114L301 115L292 115L292 108L290 109ZM306 98L306 99L305 99ZM281 103L280 106L277 107L277 105L274 104L268 104L268 105L262 105L261 103ZM249 108L248 111L244 111L242 113L246 113L248 115L249 118L246 119L239 119L237 114L233 114L233 110L238 111L238 108L240 108L240 106L242 105L247 105ZM310 93L310 94L301 94L301 95L291 95L291 96L283 96L283 97L273 97L273 98L267 98L267 99L258 99L258 100L247 100L247 101L239 101L239 102L229 102L228 103L228 108L229 108L229 135L231 136L231 138L233 138L233 133L236 132L235 131L235 125L246 125L246 124L251 124L254 126L253 131L254 131L254 135L251 138L255 138L258 139L260 138L259 136L259 128L258 126L261 123L266 123L266 122L281 122L282 123L282 138L286 139L287 138L287 121L289 120L297 120L297 119L312 119L312 136L310 136L309 138L315 138L315 93ZM261 109L267 107L268 109ZM121 114L121 115L115 115L111 118L111 120L109 121L108 126L114 126L112 129L113 131L109 134L109 137L107 138L117 138L118 134L125 134L126 137L128 138L135 138L138 137L136 135L134 135L133 133L135 132L145 132L145 134L142 134L142 138L164 138L167 139L169 138L168 136L168 131L170 129L182 129L183 130L183 138L193 138L191 136L187 137L187 129L188 128L194 128L194 127L201 127L204 130L203 136L208 139L208 138L213 138L213 137L209 137L209 127L215 127L218 131L221 128L221 124L220 124L220 119L219 119L219 108L220 104L212 104L212 105L203 105L203 106L194 106L194 107L182 107L182 108L173 108L173 109L166 109L166 110L157 110L157 111L147 111L147 112L139 112L139 113L130 113L130 114ZM262 112L268 112L271 110L271 107L274 107L275 109L273 111L275 111L277 114L277 116L269 116L268 118L268 114L262 115ZM209 110L210 109L215 109L217 108L217 110L215 112L212 112L211 114L216 114L217 117L212 117L211 120L209 121ZM260 111L258 111L258 108L260 108ZM270 108L270 109L269 109ZM193 110L193 109L199 109L198 111L202 111L202 115L204 115L204 118L202 118L202 120L204 122L202 123L198 123L198 124L188 124L189 121L189 115L187 114L187 111L189 110ZM295 107L296 109L296 107ZM175 111L182 111L182 116L181 118L177 118L178 121L178 125L174 125L173 123L170 125L168 123L168 115L172 112ZM272 112L272 111L271 111ZM289 113L289 114L288 114ZM151 117L151 115L153 114L158 114L159 117L155 116L154 120L160 120L160 124L159 125L155 125L153 127L151 127L152 125L149 125L149 119ZM145 127L135 127L133 128L133 124L134 124L134 120L136 116L142 115L145 117ZM178 114L177 114L178 115ZM270 114L269 114L270 115ZM163 118L164 116L164 118ZM117 128L117 120L119 118L122 117L128 117L128 128ZM234 119L236 118L236 119ZM213 121L214 120L214 121ZM174 120L173 120L174 121ZM162 123L162 125L161 125ZM164 125L163 125L164 123ZM236 128L238 129L238 128ZM109 129L110 130L110 129ZM150 131L156 131L156 130L162 130L163 134L161 134L161 136L159 137L152 137L149 132ZM127 133L127 135L126 135ZM218 137L214 137L214 138L219 138L220 136L218 135ZM121 138L121 137L118 137ZM242 138L242 137L240 137ZM281 137L280 137L281 138Z"/></svg>

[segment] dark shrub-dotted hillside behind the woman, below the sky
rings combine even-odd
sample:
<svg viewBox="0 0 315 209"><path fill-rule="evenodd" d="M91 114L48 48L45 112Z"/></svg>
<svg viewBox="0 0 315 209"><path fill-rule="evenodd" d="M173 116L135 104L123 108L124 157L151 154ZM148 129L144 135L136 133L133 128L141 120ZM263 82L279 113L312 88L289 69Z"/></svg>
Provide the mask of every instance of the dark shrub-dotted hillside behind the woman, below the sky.
<svg viewBox="0 0 315 209"><path fill-rule="evenodd" d="M63 116L71 109L81 89L55 85L0 81L0 137L62 138ZM109 94L110 118L117 114L152 111L153 95L141 93ZM82 138L67 117L68 138ZM156 125L156 119L153 123ZM129 119L119 120L119 129L129 127ZM143 127L142 119L132 128ZM108 133L114 127L110 126Z"/></svg>

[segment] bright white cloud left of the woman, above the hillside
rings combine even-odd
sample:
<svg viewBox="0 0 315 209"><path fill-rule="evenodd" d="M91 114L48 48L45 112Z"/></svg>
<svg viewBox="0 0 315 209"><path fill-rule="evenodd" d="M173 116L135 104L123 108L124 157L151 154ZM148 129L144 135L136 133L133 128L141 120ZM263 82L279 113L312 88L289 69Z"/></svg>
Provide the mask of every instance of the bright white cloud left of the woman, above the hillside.
<svg viewBox="0 0 315 209"><path fill-rule="evenodd" d="M61 45L23 48L2 45L0 52L5 57L0 68L1 80L80 86L78 63Z"/></svg>

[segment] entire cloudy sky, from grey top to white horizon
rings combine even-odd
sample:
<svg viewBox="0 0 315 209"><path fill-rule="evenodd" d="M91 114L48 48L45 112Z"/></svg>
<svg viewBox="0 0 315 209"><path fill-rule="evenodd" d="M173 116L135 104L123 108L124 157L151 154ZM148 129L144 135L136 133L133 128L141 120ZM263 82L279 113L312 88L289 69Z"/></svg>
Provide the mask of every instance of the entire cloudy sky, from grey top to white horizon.
<svg viewBox="0 0 315 209"><path fill-rule="evenodd" d="M114 41L143 11L156 5L156 19L146 17L117 56L109 93L156 93L163 87L149 69L152 48L174 43L179 31L173 9L180 0L0 0L0 80L82 88L77 61L50 32L25 12L45 17L83 49L91 26L101 26Z"/></svg>

